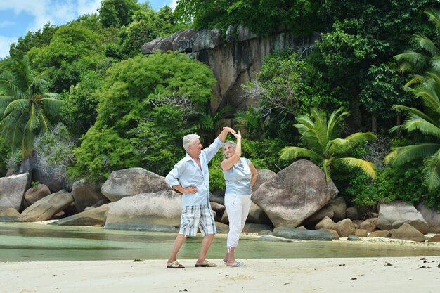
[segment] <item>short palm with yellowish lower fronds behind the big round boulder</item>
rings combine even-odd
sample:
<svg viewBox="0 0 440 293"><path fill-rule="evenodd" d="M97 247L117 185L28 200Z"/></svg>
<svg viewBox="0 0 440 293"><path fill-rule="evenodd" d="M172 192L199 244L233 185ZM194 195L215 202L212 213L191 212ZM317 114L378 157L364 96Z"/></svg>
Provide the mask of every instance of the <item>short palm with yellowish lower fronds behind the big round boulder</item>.
<svg viewBox="0 0 440 293"><path fill-rule="evenodd" d="M339 138L340 126L344 116L349 112L339 108L332 112L327 119L325 113L311 109L311 117L305 115L297 117L294 126L302 134L302 142L308 148L286 147L281 150L280 159L309 158L317 164L330 179L331 169L339 167L357 167L371 178L375 178L375 164L356 157L345 157L356 145L376 138L372 132L357 132L345 138Z"/></svg>

